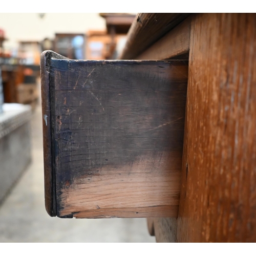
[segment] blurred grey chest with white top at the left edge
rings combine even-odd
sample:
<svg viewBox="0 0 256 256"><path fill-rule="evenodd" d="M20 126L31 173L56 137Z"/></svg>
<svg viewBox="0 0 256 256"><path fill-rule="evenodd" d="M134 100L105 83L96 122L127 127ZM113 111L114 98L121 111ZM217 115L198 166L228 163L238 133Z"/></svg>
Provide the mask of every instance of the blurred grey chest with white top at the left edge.
<svg viewBox="0 0 256 256"><path fill-rule="evenodd" d="M31 107L4 103L0 114L0 203L31 161Z"/></svg>

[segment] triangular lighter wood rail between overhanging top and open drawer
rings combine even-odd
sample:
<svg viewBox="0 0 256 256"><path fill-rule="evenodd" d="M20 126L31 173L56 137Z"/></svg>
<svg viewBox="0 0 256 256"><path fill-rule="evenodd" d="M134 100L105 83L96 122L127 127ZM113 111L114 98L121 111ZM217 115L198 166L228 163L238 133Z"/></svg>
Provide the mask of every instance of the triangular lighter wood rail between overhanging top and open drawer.
<svg viewBox="0 0 256 256"><path fill-rule="evenodd" d="M190 38L190 17L142 52L137 59L169 59L188 53Z"/></svg>

